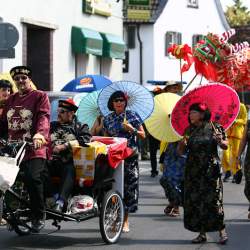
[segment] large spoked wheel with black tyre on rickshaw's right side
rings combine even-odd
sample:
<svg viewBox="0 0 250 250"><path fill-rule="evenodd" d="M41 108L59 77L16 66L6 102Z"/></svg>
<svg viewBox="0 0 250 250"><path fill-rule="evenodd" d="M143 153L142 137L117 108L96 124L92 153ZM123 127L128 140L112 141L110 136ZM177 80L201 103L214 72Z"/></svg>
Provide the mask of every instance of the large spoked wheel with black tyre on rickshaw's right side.
<svg viewBox="0 0 250 250"><path fill-rule="evenodd" d="M118 192L110 190L104 195L99 222L103 240L108 244L116 243L124 222L124 205Z"/></svg>

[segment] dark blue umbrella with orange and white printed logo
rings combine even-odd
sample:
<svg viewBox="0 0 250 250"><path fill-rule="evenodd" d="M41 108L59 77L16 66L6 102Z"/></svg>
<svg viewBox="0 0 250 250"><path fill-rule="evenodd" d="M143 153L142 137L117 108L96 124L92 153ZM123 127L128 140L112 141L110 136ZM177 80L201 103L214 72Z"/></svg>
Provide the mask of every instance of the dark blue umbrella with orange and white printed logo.
<svg viewBox="0 0 250 250"><path fill-rule="evenodd" d="M111 84L112 81L103 75L83 75L67 83L62 91L92 92Z"/></svg>

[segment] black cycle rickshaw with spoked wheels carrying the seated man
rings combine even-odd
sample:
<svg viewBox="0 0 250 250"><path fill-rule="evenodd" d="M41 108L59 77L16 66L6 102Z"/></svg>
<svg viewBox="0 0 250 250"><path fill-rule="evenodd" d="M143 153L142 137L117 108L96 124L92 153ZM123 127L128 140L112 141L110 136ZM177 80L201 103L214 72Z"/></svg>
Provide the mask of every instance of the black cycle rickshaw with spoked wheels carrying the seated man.
<svg viewBox="0 0 250 250"><path fill-rule="evenodd" d="M114 142L114 139L111 140L110 138L108 143L111 145L112 142ZM116 140L117 142L119 144L119 140ZM9 145L9 148L16 147ZM93 207L77 213L70 213L68 208L64 212L58 212L47 207L46 220L52 220L52 225L60 230L61 221L82 222L99 217L103 240L108 244L116 243L120 238L124 222L123 194L121 193L123 192L123 176L121 175L123 175L123 162L114 169L110 167L107 155L98 155L95 159L95 176L92 185L82 187L78 182L75 184L72 194L72 198L84 194L91 196L94 201ZM120 183L117 183L117 178ZM8 230L15 231L20 236L33 233L29 196L22 179L23 173L19 171L14 185L3 193L4 208L2 216L7 221ZM70 201L68 204L70 204Z"/></svg>

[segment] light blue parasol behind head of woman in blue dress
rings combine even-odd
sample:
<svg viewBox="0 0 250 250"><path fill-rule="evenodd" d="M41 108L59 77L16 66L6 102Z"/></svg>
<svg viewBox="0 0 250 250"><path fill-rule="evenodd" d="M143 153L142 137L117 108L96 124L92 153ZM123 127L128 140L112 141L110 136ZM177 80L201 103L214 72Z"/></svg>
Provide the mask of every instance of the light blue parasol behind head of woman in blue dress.
<svg viewBox="0 0 250 250"><path fill-rule="evenodd" d="M99 94L97 102L104 116L112 112L108 109L108 100L118 90L123 91L128 96L126 109L137 112L142 121L153 112L154 98L149 90L135 82L117 81L102 89Z"/></svg>

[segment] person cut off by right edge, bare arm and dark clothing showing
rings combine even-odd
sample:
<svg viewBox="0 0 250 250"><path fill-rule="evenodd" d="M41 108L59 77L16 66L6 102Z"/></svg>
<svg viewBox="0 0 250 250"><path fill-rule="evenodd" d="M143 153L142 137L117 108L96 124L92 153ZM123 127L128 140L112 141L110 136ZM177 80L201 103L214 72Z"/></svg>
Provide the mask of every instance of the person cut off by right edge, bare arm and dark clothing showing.
<svg viewBox="0 0 250 250"><path fill-rule="evenodd" d="M248 208L248 219L250 219L250 121L247 122L247 126L245 126L243 137L239 146L238 156L236 157L236 163L241 163L241 156L244 152L244 149L247 146L247 152L244 162L244 175L245 175L245 187L244 187L244 194L249 202Z"/></svg>

